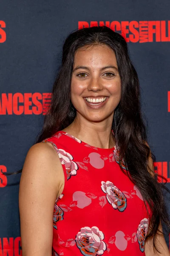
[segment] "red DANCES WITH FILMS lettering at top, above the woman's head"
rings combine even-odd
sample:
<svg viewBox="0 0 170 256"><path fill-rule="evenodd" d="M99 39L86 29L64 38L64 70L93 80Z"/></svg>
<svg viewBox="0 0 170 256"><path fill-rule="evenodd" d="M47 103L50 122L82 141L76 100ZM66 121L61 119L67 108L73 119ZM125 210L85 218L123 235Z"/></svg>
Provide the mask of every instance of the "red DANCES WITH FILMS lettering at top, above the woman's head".
<svg viewBox="0 0 170 256"><path fill-rule="evenodd" d="M121 33L127 42L169 42L170 20L141 20L141 21L79 21L78 28L92 26L108 26L113 31Z"/></svg>

